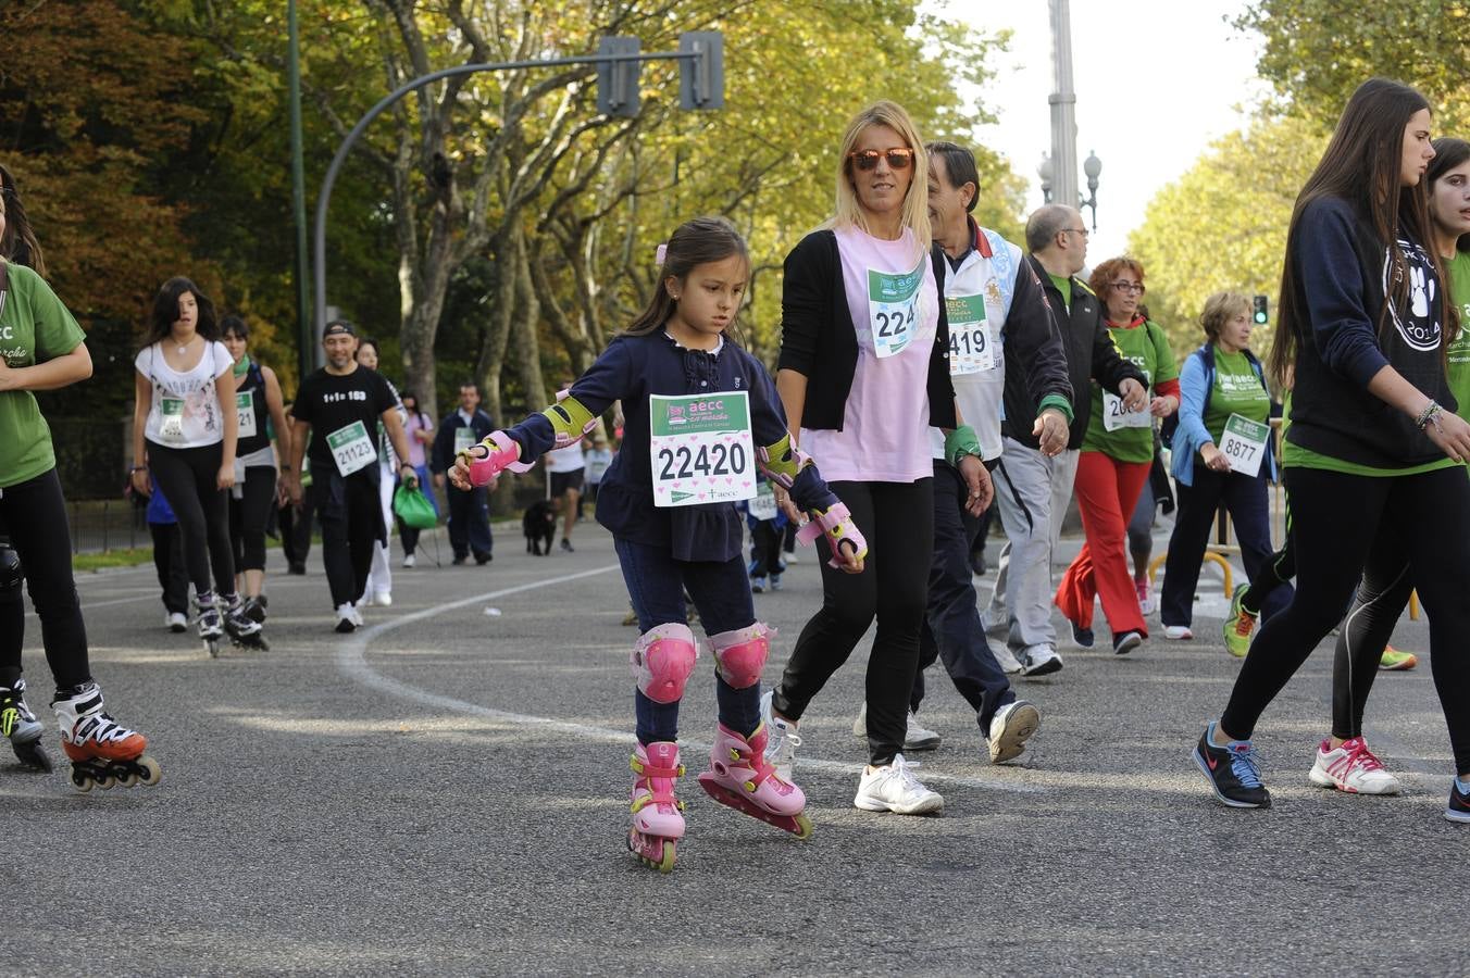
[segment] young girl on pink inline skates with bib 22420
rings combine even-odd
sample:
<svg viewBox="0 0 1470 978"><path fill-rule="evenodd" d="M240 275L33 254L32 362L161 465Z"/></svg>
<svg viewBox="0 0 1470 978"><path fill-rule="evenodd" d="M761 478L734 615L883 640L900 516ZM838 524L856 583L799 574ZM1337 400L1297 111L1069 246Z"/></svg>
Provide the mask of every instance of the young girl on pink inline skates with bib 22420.
<svg viewBox="0 0 1470 978"><path fill-rule="evenodd" d="M716 217L691 220L669 238L659 288L559 402L459 454L450 480L485 485L504 468L522 471L553 448L592 429L623 402L623 448L603 476L597 521L613 533L641 636L632 652L638 745L632 755L628 847L669 872L684 836L673 784L684 768L676 743L679 699L698 658L685 624L688 589L714 656L719 724L710 769L700 775L716 802L806 838L806 796L767 764L760 722L760 673L769 655L756 621L735 502L754 495L756 468L788 489L825 533L833 565L857 574L867 545L847 507L808 455L791 443L766 369L725 330L750 279L745 242Z"/></svg>

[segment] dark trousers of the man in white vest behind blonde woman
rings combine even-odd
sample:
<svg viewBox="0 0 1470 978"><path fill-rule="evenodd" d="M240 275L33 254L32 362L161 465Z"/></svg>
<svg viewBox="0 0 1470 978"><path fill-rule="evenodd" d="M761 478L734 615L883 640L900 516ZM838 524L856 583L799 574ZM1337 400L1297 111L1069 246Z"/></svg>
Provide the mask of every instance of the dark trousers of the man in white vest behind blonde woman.
<svg viewBox="0 0 1470 978"><path fill-rule="evenodd" d="M919 709L923 671L944 659L944 668L966 702L975 709L980 731L989 737L991 718L1014 702L1005 671L995 662L985 640L985 626L976 606L970 576L970 546L980 521L964 511L969 488L960 473L941 461L933 464L933 562L929 565L929 606L919 636L919 668L908 703Z"/></svg>

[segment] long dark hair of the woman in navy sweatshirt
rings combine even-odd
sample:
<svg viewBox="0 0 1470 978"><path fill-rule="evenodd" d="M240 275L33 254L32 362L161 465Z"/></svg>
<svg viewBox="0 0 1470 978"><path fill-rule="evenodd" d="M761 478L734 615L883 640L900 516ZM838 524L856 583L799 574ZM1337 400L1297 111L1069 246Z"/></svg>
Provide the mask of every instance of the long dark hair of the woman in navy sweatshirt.
<svg viewBox="0 0 1470 978"><path fill-rule="evenodd" d="M1414 186L1401 186L1404 169L1404 128L1414 113L1429 109L1429 101L1408 85L1386 78L1370 78L1358 85L1348 98L1338 119L1317 169L1307 178L1305 186L1297 195L1291 226L1286 231L1286 263L1282 272L1279 314L1276 316L1276 338L1272 342L1270 370L1277 383L1285 383L1297 361L1298 323L1301 330L1310 329L1307 310L1297 308L1297 275L1292 272L1291 256L1297 244L1297 226L1301 214L1316 200L1338 197L1348 201L1373 225L1373 232L1388 250L1391 269L1385 276L1388 289L1383 307L1377 310L1377 329L1382 335L1389 326L1389 303L1405 308L1410 301L1410 280L1404 253L1398 247L1402 233L1426 245L1435 273L1444 282L1444 267L1436 250L1429 241L1429 192L1427 181ZM1310 288L1310 283L1304 283ZM1445 289L1439 291L1441 322L1449 319Z"/></svg>

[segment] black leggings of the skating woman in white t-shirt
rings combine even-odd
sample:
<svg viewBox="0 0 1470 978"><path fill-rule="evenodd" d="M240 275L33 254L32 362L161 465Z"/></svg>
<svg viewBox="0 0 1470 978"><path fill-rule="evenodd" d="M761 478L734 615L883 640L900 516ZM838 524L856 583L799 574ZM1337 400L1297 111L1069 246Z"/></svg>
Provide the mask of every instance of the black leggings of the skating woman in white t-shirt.
<svg viewBox="0 0 1470 978"><path fill-rule="evenodd" d="M165 448L148 442L148 471L173 508L184 535L184 562L197 595L209 593L209 570L220 595L235 593L229 546L229 493L219 488L223 445ZM206 552L207 548L207 552Z"/></svg>

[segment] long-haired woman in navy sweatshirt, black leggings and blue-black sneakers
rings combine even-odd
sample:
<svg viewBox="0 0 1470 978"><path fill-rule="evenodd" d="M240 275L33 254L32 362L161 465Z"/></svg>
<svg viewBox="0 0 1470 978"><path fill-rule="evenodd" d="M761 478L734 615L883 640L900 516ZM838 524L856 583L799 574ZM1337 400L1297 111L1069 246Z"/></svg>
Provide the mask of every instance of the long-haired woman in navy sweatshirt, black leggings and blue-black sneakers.
<svg viewBox="0 0 1470 978"><path fill-rule="evenodd" d="M1292 211L1270 366L1295 372L1282 452L1297 595L1261 629L1195 762L1226 805L1270 805L1255 721L1342 617L1377 537L1408 555L1460 780L1446 816L1470 821L1470 424L1454 414L1444 348L1457 327L1429 244L1424 97L1372 79L1348 100ZM1444 407L1441 407L1444 405ZM1351 527L1351 532L1347 532ZM1336 739L1322 755L1345 746ZM1348 768L1380 767L1361 739ZM1335 761L1329 761L1335 764ZM1320 765L1319 765L1320 767Z"/></svg>

